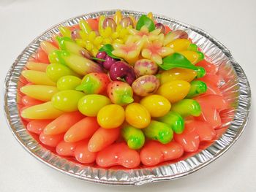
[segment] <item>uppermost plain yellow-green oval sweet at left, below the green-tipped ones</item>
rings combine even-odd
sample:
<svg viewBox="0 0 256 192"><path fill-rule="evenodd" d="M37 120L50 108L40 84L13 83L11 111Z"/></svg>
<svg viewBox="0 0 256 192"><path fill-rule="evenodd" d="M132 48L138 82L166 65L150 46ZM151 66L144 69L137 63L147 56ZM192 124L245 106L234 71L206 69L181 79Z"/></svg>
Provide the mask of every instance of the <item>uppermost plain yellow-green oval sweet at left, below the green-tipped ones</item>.
<svg viewBox="0 0 256 192"><path fill-rule="evenodd" d="M46 74L50 78L50 80L57 82L60 77L66 76L66 75L75 75L78 76L75 72L73 72L71 69L69 69L68 66L64 66L61 64L50 64L48 65L46 69Z"/></svg>

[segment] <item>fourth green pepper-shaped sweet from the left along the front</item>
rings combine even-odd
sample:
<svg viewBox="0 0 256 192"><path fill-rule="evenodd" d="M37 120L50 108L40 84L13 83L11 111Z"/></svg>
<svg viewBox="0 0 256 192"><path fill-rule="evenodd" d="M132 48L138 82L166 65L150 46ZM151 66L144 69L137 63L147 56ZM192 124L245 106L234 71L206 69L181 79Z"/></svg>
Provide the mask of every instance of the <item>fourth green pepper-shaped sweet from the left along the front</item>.
<svg viewBox="0 0 256 192"><path fill-rule="evenodd" d="M171 111L178 112L182 117L189 115L198 117L201 114L200 104L193 99L183 99L172 105Z"/></svg>

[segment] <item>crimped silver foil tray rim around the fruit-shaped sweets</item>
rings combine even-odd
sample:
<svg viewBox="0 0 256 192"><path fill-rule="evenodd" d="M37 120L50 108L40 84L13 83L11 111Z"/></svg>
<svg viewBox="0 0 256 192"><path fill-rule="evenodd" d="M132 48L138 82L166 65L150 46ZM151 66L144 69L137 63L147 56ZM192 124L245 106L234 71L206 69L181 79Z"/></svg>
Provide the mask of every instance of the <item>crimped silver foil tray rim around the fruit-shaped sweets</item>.
<svg viewBox="0 0 256 192"><path fill-rule="evenodd" d="M18 112L18 101L20 100L18 81L24 65L29 57L36 53L39 43L42 40L50 39L53 34L59 33L59 26L73 26L78 24L81 19L97 18L99 15L114 15L115 12L116 10L93 12L59 23L34 39L18 56L7 74L4 87L4 111L13 135L20 142L20 145L42 163L64 174L95 183L142 185L162 180L173 180L191 174L210 164L225 153L244 131L251 104L249 82L243 69L234 60L230 51L217 39L214 39L214 37L199 28L161 15L154 15L157 22L170 26L173 30L181 29L187 31L189 38L200 47L207 59L219 68L218 73L223 78L220 91L231 106L229 110L222 112L222 128L227 128L227 130L216 142L201 150L200 153L185 158L183 161L165 162L154 167L141 166L138 169L121 169L120 167L102 169L94 165L82 165L66 158L61 158L59 155L42 147L26 130ZM134 15L135 18L145 14L129 10L122 10L121 12L127 16Z"/></svg>

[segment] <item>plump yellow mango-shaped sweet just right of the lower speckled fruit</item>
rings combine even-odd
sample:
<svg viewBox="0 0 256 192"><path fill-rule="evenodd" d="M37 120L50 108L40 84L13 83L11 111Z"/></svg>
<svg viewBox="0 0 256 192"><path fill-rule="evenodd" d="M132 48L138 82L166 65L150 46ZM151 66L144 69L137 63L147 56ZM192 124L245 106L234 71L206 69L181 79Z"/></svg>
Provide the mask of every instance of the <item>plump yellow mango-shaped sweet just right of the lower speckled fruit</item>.
<svg viewBox="0 0 256 192"><path fill-rule="evenodd" d="M184 99L189 93L190 83L184 80L174 80L161 85L157 93L164 96L171 103Z"/></svg>

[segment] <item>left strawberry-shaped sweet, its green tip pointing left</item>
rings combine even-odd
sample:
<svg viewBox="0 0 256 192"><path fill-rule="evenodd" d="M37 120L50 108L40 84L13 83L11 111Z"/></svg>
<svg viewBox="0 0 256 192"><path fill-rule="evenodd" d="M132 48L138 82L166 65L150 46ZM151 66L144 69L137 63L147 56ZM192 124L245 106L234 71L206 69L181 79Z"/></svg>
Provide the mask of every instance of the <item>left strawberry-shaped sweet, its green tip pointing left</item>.
<svg viewBox="0 0 256 192"><path fill-rule="evenodd" d="M76 90L83 91L86 94L98 94L105 91L109 82L108 75L105 73L89 73L83 77Z"/></svg>

